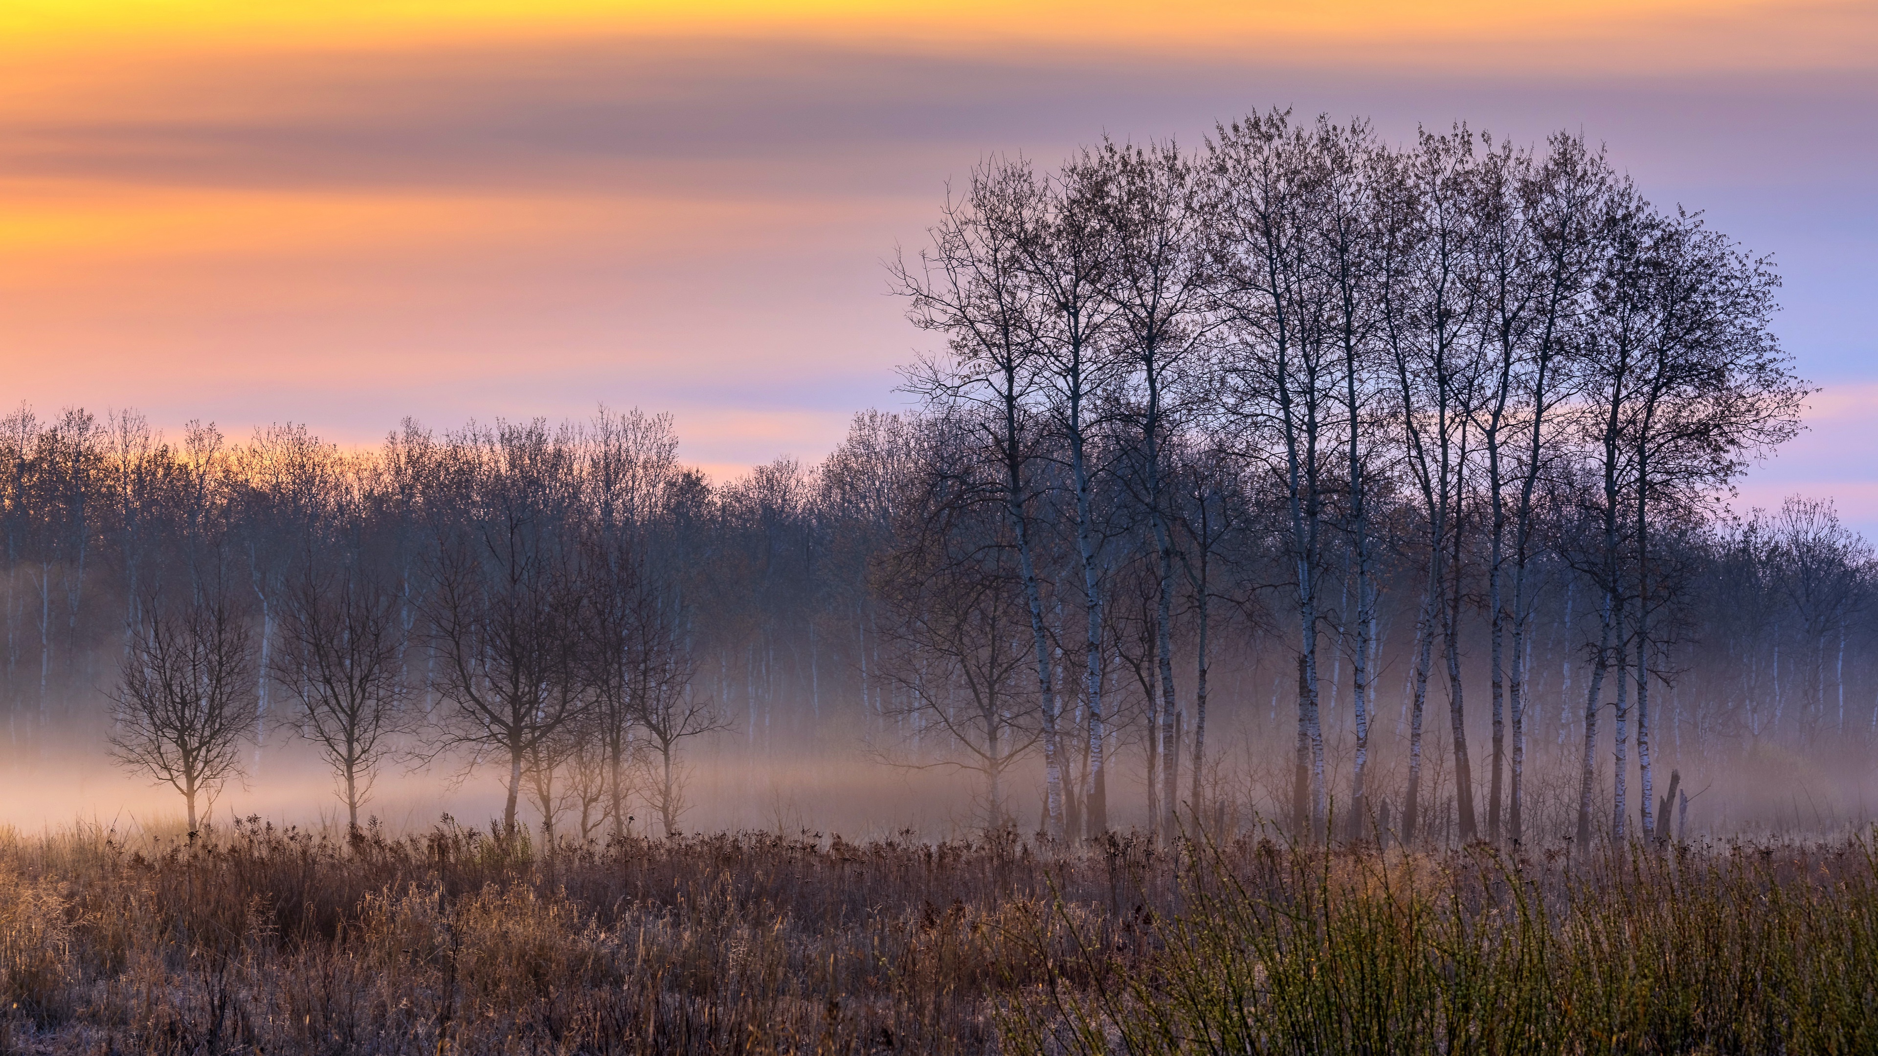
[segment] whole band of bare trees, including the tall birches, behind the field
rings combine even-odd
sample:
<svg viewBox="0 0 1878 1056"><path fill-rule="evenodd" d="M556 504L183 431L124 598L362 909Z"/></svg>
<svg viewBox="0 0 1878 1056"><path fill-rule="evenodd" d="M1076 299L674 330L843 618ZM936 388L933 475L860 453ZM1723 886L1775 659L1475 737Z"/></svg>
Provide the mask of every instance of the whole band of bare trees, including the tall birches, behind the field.
<svg viewBox="0 0 1878 1056"><path fill-rule="evenodd" d="M1059 840L1664 838L1698 778L1870 772L1870 547L1726 505L1809 393L1777 274L1581 137L990 160L890 276L913 410L723 483L640 412L6 417L9 742L192 827L257 740L353 823L473 763L578 840L680 829L702 753L939 769Z"/></svg>

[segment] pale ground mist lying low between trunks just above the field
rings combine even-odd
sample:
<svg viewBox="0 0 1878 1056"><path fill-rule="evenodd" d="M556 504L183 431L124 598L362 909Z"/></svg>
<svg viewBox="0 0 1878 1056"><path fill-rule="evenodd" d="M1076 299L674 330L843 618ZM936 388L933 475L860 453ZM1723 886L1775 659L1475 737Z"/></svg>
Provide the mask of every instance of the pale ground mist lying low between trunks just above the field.
<svg viewBox="0 0 1878 1056"><path fill-rule="evenodd" d="M1228 705L1230 707L1230 705ZM1224 708L1223 708L1224 710ZM1266 710L1260 707L1249 710ZM1270 712L1268 716L1270 718ZM1271 722L1247 722L1228 735L1219 774L1219 797L1228 804L1234 831L1283 836L1288 797L1286 750ZM1260 727L1268 733L1260 735ZM1485 733L1485 731L1482 731ZM864 746L839 750L787 750L751 757L738 735L719 737L700 746L689 763L693 806L684 814L684 831L761 831L785 836L817 834L847 840L900 836L911 831L924 840L977 838L986 831L982 782L971 774L896 767L873 757ZM1555 740L1553 748L1555 748ZM1260 744L1264 742L1264 750ZM1378 752L1392 755L1399 744L1380 738ZM1608 750L1608 746L1606 746ZM1123 757L1123 776L1110 819L1119 831L1146 831L1146 778L1138 761ZM1572 836L1576 808L1576 759L1561 752L1540 752L1532 774L1529 806L1536 847L1562 847ZM1551 757L1547 757L1551 755ZM1690 791L1688 838L1824 838L1865 831L1878 823L1878 782L1867 750L1801 753L1778 746L1701 757L1700 752L1671 755L1664 770L1679 769ZM411 770L393 763L379 776L364 814L389 834L421 834L445 815L462 825L500 823L503 787L500 767L466 767L466 761L438 761ZM1042 769L1020 767L1012 782L1018 791L1008 802L1012 823L1024 834L1042 831ZM1348 757L1337 759L1337 776L1347 776ZM1401 763L1384 767L1384 787L1399 785ZM1609 763L1600 765L1600 802L1609 799ZM1399 814L1399 797L1393 810ZM278 827L342 834L346 806L334 780L304 746L282 740L250 753L248 774L231 780L216 797L210 823L227 829L240 817L257 815ZM539 834L541 815L530 812L530 827ZM631 831L657 834L655 815L639 806ZM563 814L562 834L569 834L573 814ZM1437 831L1452 827L1452 812L1437 808ZM38 753L13 750L0 770L0 823L21 834L56 832L73 825L115 829L124 838L182 834L182 799L167 785L152 785L111 765L101 750L53 750ZM1606 821L1608 829L1608 821ZM1452 829L1450 829L1452 832ZM597 836L605 842L605 832Z"/></svg>

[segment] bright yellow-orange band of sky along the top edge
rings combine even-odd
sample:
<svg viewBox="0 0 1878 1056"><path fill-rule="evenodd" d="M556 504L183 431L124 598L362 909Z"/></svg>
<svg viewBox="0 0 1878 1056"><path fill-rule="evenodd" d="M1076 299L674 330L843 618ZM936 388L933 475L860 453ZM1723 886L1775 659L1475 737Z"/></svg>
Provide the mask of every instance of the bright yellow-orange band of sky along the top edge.
<svg viewBox="0 0 1878 1056"><path fill-rule="evenodd" d="M595 34L798 38L945 51L1106 49L1316 64L1658 70L1867 66L1859 2L1767 0L13 0L9 51L434 45Z"/></svg>

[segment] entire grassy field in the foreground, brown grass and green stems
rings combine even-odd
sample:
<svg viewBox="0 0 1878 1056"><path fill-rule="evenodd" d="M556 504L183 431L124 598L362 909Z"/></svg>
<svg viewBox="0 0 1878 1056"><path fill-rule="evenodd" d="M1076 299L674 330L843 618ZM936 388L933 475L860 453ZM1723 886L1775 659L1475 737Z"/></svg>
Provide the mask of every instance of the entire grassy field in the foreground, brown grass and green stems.
<svg viewBox="0 0 1878 1056"><path fill-rule="evenodd" d="M1857 836L0 840L15 1052L1872 1052L1874 964Z"/></svg>

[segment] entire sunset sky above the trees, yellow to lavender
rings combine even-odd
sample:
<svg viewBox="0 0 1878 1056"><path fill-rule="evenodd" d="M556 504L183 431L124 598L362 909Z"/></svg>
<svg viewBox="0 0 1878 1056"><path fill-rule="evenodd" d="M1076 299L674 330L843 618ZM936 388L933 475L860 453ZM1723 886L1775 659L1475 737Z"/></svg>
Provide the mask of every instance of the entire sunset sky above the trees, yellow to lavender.
<svg viewBox="0 0 1878 1056"><path fill-rule="evenodd" d="M930 348L883 261L992 154L1271 105L1608 145L1786 280L1741 505L1878 537L1878 4L4 0L0 404L233 436L672 412L819 458Z"/></svg>

